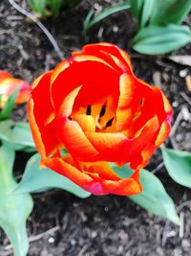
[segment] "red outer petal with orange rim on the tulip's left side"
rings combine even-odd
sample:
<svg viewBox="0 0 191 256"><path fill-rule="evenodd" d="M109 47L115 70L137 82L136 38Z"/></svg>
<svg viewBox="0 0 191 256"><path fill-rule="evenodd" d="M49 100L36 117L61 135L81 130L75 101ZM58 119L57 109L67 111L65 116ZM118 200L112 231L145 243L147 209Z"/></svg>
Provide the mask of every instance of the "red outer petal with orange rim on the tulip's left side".
<svg viewBox="0 0 191 256"><path fill-rule="evenodd" d="M48 72L34 81L32 99L28 107L33 140L43 156L53 153L60 147L55 136L55 113L50 94L51 76L52 72Z"/></svg>

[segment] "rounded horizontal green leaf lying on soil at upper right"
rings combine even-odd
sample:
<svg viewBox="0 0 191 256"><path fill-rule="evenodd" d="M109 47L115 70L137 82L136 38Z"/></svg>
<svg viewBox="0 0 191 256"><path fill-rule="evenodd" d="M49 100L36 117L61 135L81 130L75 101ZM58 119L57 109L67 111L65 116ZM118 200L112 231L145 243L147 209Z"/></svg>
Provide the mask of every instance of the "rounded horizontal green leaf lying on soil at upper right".
<svg viewBox="0 0 191 256"><path fill-rule="evenodd" d="M191 33L187 26L150 26L138 32L133 48L141 54L160 55L179 49L190 39Z"/></svg>

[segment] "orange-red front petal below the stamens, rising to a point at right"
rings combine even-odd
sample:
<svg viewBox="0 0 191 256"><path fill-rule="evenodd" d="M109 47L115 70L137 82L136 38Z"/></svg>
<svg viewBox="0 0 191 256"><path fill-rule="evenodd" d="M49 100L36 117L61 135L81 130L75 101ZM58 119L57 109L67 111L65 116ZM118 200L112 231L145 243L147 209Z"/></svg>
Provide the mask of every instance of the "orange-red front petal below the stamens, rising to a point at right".
<svg viewBox="0 0 191 256"><path fill-rule="evenodd" d="M86 136L99 152L89 161L110 161L117 162L119 165L141 161L141 151L155 145L158 129L159 121L157 116L154 116L138 132L135 139L129 139L123 133L86 132ZM134 165L133 169L137 169L137 166Z"/></svg>

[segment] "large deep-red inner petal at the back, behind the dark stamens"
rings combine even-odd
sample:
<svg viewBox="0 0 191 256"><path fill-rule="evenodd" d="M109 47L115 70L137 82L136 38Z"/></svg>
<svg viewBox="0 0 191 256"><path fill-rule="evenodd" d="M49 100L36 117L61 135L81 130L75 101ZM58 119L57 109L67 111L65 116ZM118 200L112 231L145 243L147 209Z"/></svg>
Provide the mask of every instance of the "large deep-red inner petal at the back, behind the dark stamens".
<svg viewBox="0 0 191 256"><path fill-rule="evenodd" d="M105 98L112 93L117 99L117 72L102 59L94 57L89 60L85 59L83 56L70 58L70 67L60 72L53 81L52 96L56 110L66 96L81 85L82 87L74 104L75 109L79 108L79 106L87 107L87 105L96 104L101 98Z"/></svg>

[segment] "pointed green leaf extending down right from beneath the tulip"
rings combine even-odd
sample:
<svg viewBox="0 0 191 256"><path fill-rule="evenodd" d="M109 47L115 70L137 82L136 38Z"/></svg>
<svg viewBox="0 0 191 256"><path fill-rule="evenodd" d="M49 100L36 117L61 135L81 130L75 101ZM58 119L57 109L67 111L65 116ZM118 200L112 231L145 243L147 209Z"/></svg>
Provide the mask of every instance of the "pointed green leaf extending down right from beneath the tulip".
<svg viewBox="0 0 191 256"><path fill-rule="evenodd" d="M129 198L145 210L179 225L180 220L175 210L175 204L166 193L159 178L142 169L140 170L140 183L142 192Z"/></svg>

